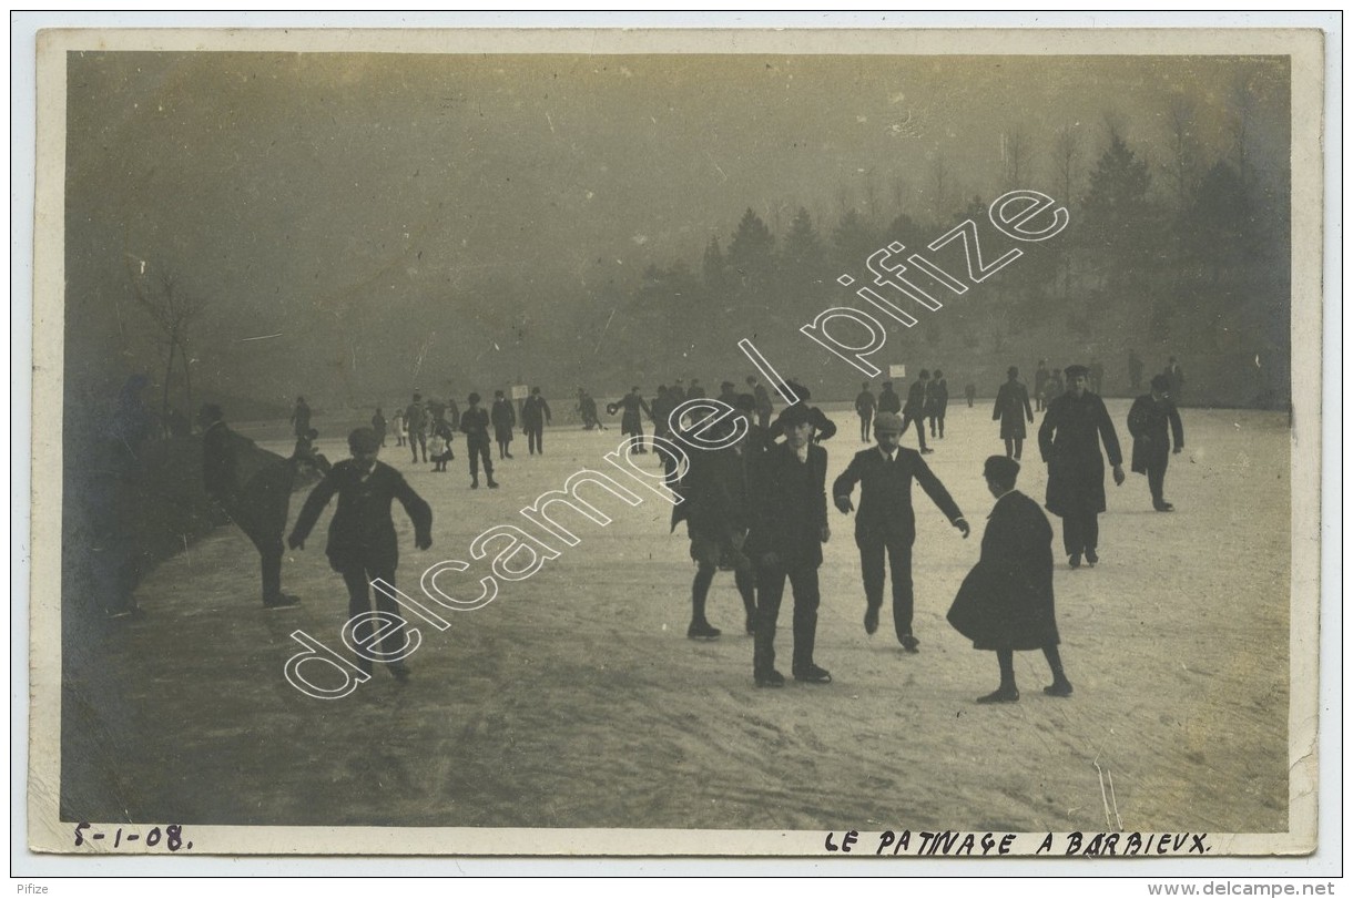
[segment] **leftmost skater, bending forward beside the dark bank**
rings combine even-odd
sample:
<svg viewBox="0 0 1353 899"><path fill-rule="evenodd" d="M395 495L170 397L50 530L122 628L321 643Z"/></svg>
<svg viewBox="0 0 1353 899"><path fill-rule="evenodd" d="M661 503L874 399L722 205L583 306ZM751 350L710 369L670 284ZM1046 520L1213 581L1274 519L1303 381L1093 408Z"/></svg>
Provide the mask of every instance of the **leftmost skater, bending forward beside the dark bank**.
<svg viewBox="0 0 1353 899"><path fill-rule="evenodd" d="M281 535L287 530L287 511L296 468L280 462L261 469L239 483L239 443L244 437L231 431L221 407L208 403L198 415L202 424L202 480L207 496L233 520L258 550L262 573L262 606L268 610L291 608L300 600L281 592ZM314 431L296 435L298 449L292 458L304 456L304 446L313 446Z"/></svg>

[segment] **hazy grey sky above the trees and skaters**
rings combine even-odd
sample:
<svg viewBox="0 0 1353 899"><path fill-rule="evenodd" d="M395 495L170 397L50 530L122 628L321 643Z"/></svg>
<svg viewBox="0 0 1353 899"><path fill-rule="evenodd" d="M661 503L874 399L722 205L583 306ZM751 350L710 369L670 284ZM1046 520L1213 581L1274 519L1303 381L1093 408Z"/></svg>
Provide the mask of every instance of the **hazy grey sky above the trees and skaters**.
<svg viewBox="0 0 1353 899"><path fill-rule="evenodd" d="M1016 126L1046 191L1054 131L1082 131L1084 192L1105 114L1160 164L1187 95L1211 162L1241 77L1253 147L1284 170L1279 58L74 53L70 301L126 327L127 266L173 270L226 368L244 338L322 341L373 310L491 342L521 310L568 327L649 261L698 269L747 207L829 230L871 185L881 219L924 220L936 155L947 193L990 199ZM272 370L299 350L268 351Z"/></svg>

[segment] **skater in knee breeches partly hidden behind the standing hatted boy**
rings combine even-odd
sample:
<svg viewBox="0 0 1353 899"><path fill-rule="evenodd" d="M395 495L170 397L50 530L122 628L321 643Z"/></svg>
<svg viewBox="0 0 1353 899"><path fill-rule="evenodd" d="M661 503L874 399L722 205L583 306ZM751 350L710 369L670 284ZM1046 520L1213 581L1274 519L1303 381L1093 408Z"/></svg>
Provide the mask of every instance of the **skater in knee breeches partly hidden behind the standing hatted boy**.
<svg viewBox="0 0 1353 899"><path fill-rule="evenodd" d="M736 420L732 415L721 419L709 429L708 439L728 437ZM752 519L754 456L747 435L727 449L691 453L690 469L676 488L685 502L672 508L672 529L676 522L686 520L690 557L695 562L695 580L690 587L690 626L686 629L686 637L691 639L714 639L721 633L705 616L709 587L720 569L732 569L743 598L747 633L755 633L756 576L751 558L743 553Z"/></svg>

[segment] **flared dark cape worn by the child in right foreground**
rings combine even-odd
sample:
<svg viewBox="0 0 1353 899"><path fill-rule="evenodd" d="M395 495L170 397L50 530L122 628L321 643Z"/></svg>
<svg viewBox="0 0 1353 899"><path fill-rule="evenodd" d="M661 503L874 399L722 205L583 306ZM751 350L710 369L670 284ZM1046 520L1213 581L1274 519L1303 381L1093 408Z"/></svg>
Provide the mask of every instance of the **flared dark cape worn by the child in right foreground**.
<svg viewBox="0 0 1353 899"><path fill-rule="evenodd" d="M1042 649L1059 642L1053 603L1053 526L1019 491L996 500L982 556L963 579L948 623L973 649Z"/></svg>

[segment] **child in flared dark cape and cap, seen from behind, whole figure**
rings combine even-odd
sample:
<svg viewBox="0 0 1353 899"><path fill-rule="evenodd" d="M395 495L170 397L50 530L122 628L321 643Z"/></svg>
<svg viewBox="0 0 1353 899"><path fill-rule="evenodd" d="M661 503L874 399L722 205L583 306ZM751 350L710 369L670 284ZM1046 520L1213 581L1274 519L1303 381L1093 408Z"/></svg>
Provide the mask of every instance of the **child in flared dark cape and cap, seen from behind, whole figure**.
<svg viewBox="0 0 1353 899"><path fill-rule="evenodd" d="M996 650L1001 683L977 702L1019 702L1015 652L1042 649L1053 683L1049 696L1070 696L1072 681L1057 649L1057 612L1053 602L1053 526L1038 503L1015 489L1019 462L992 456L982 470L986 489L996 497L982 534L982 556L963 579L948 610L954 630L973 641L973 649Z"/></svg>

